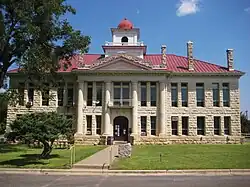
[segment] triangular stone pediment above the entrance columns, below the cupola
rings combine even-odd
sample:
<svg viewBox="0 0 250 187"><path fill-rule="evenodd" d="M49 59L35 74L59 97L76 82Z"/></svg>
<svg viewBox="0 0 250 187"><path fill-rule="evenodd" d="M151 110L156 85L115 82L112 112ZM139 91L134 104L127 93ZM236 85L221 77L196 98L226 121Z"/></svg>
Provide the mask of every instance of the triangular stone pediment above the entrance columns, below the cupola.
<svg viewBox="0 0 250 187"><path fill-rule="evenodd" d="M152 65L143 59L129 55L114 55L94 62L90 70L151 70Z"/></svg>

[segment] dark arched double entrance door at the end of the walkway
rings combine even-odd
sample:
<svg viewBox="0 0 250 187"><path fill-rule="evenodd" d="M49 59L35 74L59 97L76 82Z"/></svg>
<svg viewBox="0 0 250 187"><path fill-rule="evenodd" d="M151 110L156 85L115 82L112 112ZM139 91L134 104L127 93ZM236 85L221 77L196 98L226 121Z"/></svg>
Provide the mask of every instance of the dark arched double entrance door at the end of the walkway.
<svg viewBox="0 0 250 187"><path fill-rule="evenodd" d="M114 140L128 141L128 119L118 116L114 119Z"/></svg>

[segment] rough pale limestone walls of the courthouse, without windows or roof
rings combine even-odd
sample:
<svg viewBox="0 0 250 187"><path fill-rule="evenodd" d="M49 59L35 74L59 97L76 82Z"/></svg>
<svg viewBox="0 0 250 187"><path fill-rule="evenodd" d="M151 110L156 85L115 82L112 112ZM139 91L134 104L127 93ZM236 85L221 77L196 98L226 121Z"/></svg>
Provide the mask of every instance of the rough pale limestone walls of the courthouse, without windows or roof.
<svg viewBox="0 0 250 187"><path fill-rule="evenodd" d="M75 120L76 138L79 143L99 143L101 136L114 135L114 119L117 116L125 116L128 119L128 128L136 144L151 143L226 143L239 142L240 129L240 100L239 84L236 77L193 77L193 76L174 76L164 75L133 75L133 76L78 76L78 83L74 84L73 106L67 106L67 94L64 94L64 106L58 106L57 88L50 90L54 95L49 101L49 106L42 106L41 93L34 92L34 103L31 108L26 106L9 106L9 124L17 115L26 112L58 111L63 115L72 116ZM20 79L18 79L20 81ZM114 81L129 82L129 104L128 106L114 105ZM133 80L133 81L131 81ZM146 106L141 106L141 83L146 81L147 102ZM17 81L12 79L13 82ZM73 82L74 80L72 80ZM76 81L75 81L76 82ZM93 83L92 106L87 105L88 83ZM150 82L156 82L156 106L150 105ZM196 83L204 83L205 106L196 105ZM96 106L96 84L102 86L102 106ZM171 106L171 83L178 85L178 104L177 107ZM188 106L182 106L181 83L188 85ZM220 85L220 105L213 106L212 83ZM230 104L229 107L223 106L222 84L229 84ZM66 84L67 85L67 84ZM67 89L67 87L65 87ZM65 90L66 91L66 90ZM25 100L27 99L27 89L25 89ZM65 102L66 100L66 102ZM87 127L87 116L91 116L90 129ZM97 120L101 118L100 134L97 134ZM141 116L146 117L146 135L141 129ZM151 134L151 116L156 117L156 134ZM197 135L197 117L205 118L204 135ZM220 133L214 134L214 117L220 117ZM171 118L178 119L178 134L172 134ZM188 117L188 135L182 134L182 117ZM224 117L230 118L229 134L224 135ZM88 129L87 129L88 128ZM89 132L90 131L90 132Z"/></svg>

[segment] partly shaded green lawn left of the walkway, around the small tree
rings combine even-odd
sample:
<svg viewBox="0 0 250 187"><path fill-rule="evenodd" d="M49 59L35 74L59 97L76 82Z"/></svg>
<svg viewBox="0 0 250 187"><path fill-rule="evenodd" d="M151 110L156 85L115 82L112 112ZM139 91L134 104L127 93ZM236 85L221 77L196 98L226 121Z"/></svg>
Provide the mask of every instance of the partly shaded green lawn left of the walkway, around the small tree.
<svg viewBox="0 0 250 187"><path fill-rule="evenodd" d="M76 146L76 162L105 146ZM49 159L38 159L42 149L26 145L0 144L0 167L20 168L70 168L70 150L53 149Z"/></svg>

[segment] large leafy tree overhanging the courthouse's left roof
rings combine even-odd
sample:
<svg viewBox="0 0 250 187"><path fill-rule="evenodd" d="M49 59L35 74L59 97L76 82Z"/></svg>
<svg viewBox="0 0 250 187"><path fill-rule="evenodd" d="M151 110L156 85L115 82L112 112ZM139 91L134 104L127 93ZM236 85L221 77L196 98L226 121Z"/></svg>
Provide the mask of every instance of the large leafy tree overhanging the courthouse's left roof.
<svg viewBox="0 0 250 187"><path fill-rule="evenodd" d="M74 54L88 52L90 37L64 19L69 13L76 11L66 0L0 0L0 88L13 64L40 89Z"/></svg>

